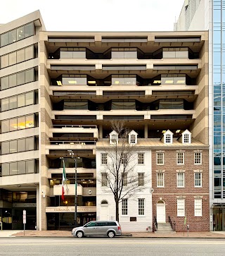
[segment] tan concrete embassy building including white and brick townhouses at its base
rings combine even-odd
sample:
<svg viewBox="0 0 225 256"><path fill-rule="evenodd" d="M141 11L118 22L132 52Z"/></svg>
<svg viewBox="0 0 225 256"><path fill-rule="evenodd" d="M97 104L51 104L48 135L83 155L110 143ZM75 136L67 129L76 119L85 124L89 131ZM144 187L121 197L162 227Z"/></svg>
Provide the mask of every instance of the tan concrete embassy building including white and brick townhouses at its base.
<svg viewBox="0 0 225 256"><path fill-rule="evenodd" d="M208 230L207 32L48 32L35 11L1 25L0 39L4 228L23 228L26 209L27 228L71 229L75 161L77 223L115 219L96 177L110 121L123 120L152 177L143 200L123 205L124 231L143 212L142 230L170 220L181 231L184 219Z"/></svg>

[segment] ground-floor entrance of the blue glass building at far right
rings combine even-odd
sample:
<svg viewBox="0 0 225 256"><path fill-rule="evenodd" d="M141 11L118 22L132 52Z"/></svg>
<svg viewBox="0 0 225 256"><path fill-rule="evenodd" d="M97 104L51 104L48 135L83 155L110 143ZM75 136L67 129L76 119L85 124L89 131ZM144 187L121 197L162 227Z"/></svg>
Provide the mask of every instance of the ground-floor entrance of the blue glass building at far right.
<svg viewBox="0 0 225 256"><path fill-rule="evenodd" d="M213 209L214 231L225 231L225 206L214 206Z"/></svg>

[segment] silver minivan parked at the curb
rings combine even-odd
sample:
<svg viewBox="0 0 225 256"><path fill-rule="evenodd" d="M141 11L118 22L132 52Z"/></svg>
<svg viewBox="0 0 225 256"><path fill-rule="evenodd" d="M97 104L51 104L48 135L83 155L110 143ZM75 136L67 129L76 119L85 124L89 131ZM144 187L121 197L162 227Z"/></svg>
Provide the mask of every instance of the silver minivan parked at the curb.
<svg viewBox="0 0 225 256"><path fill-rule="evenodd" d="M72 236L121 236L120 224L117 221L90 221L84 226L72 228Z"/></svg>

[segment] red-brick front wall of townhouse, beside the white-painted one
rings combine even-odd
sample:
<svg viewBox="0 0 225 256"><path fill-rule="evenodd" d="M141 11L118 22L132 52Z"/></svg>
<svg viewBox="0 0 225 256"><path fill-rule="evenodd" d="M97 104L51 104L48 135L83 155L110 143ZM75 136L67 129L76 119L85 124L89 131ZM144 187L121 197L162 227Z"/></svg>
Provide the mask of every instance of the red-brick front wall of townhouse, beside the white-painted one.
<svg viewBox="0 0 225 256"><path fill-rule="evenodd" d="M157 150L152 151L152 176L153 176L153 219L157 217L158 201L165 202L166 222L169 217L176 223L176 231L184 231L189 225L189 231L209 231L209 166L208 150L202 152L202 164L194 164L196 150L182 150L184 152L184 164L176 164L176 153L179 150L163 150L164 165L156 164ZM184 171L184 188L177 188L176 173ZM202 187L194 186L194 170L202 171ZM157 171L163 171L165 176L164 188L157 188ZM185 217L177 217L177 197L185 199ZM202 217L195 217L195 198L202 198Z"/></svg>

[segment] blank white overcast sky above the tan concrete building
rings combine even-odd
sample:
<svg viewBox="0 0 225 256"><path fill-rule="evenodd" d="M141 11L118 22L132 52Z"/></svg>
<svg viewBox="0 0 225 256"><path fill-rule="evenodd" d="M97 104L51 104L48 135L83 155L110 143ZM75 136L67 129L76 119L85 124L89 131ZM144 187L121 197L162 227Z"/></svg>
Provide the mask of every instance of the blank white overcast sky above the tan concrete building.
<svg viewBox="0 0 225 256"><path fill-rule="evenodd" d="M174 30L184 0L1 0L0 24L39 10L49 31Z"/></svg>

